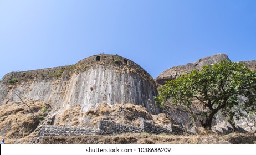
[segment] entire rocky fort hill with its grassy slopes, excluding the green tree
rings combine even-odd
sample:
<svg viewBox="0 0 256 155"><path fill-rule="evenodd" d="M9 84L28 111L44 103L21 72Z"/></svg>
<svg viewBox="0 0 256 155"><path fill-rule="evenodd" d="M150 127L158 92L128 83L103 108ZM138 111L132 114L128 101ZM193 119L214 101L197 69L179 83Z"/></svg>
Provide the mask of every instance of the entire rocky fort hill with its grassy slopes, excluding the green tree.
<svg viewBox="0 0 256 155"><path fill-rule="evenodd" d="M232 130L221 114L214 117L212 131L206 132L199 122L202 108L197 102L196 120L185 107L160 109L155 104L157 86L221 60L230 61L225 54L209 56L167 69L155 81L139 65L117 55L95 55L75 65L8 73L0 82L0 138L6 143L256 143L255 134L250 133L255 130L255 115L235 121L245 133L229 134ZM256 69L256 60L239 63ZM100 130L100 120L144 132L41 136L45 126ZM146 133L141 121L150 123L152 131ZM156 129L165 132L156 135Z"/></svg>

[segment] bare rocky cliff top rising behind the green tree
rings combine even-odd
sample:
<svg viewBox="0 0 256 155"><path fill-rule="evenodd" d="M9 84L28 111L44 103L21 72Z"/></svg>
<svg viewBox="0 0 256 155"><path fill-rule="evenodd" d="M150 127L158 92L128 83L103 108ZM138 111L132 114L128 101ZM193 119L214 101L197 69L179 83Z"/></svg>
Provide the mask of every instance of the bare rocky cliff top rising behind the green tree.
<svg viewBox="0 0 256 155"><path fill-rule="evenodd" d="M203 59L199 59L195 63L174 66L163 71L158 77L156 77L155 81L158 86L162 86L166 81L174 80L181 75L190 74L193 70L200 70L202 69L202 66L215 64L222 60L230 61L226 54L216 54Z"/></svg>

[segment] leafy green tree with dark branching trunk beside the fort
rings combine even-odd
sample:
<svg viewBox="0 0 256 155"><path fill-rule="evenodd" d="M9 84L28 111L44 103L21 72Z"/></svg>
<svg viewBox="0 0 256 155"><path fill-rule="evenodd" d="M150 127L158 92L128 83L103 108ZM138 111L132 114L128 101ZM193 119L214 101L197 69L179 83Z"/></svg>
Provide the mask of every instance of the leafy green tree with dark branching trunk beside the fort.
<svg viewBox="0 0 256 155"><path fill-rule="evenodd" d="M167 81L159 89L157 104L164 106L171 98L172 104L181 104L192 111L193 101L199 102L207 111L204 128L212 125L212 119L221 111L234 127L233 117L239 119L242 111L255 112L256 72L241 63L221 61L218 64L204 66L201 71ZM239 99L243 98L241 102Z"/></svg>

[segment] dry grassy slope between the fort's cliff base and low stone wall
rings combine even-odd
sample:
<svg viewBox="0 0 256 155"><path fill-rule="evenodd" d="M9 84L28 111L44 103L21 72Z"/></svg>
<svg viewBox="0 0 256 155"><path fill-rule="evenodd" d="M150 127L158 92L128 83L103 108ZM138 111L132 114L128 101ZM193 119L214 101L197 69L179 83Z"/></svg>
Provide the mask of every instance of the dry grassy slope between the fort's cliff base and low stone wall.
<svg viewBox="0 0 256 155"><path fill-rule="evenodd" d="M168 115L163 113L151 115L144 107L134 104L117 105L111 108L103 103L95 110L85 113L80 112L79 106L74 106L55 117L58 110L52 110L47 104L33 100L25 102L32 108L36 117L43 117L39 120L35 119L28 107L21 102L1 105L0 138L6 139L6 143L37 143L43 125L95 127L99 120L110 120L139 127L141 118L162 127L166 127L169 123L176 124ZM43 108L47 106L47 111L43 112Z"/></svg>

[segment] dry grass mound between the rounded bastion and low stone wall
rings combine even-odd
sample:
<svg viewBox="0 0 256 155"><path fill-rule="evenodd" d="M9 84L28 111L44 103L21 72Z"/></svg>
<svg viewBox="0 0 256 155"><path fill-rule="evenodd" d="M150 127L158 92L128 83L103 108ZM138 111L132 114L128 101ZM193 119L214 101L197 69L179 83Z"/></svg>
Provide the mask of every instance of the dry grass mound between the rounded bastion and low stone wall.
<svg viewBox="0 0 256 155"><path fill-rule="evenodd" d="M54 125L96 127L99 120L111 120L116 123L139 126L140 123L137 120L139 117L153 123L150 113L140 105L124 104L110 107L108 104L103 103L96 107L95 110L89 110L86 113L82 113L80 110L81 107L79 105L65 110L58 116Z"/></svg>

